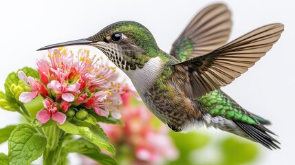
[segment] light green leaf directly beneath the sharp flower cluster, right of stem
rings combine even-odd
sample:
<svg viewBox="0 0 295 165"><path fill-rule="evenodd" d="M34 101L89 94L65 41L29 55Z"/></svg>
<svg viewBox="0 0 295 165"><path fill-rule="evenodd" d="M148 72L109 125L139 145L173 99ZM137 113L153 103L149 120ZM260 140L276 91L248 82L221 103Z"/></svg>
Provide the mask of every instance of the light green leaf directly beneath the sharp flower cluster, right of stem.
<svg viewBox="0 0 295 165"><path fill-rule="evenodd" d="M74 135L80 135L84 137L86 140L89 140L90 142L93 142L96 144L96 146L104 148L109 153L115 155L116 150L109 143L108 140L106 140L106 135L103 132L102 129L99 129L100 126L97 124L96 126L77 126L76 124L72 124L71 122L65 122L64 124L60 125L57 124L60 129L67 133L71 133Z"/></svg>

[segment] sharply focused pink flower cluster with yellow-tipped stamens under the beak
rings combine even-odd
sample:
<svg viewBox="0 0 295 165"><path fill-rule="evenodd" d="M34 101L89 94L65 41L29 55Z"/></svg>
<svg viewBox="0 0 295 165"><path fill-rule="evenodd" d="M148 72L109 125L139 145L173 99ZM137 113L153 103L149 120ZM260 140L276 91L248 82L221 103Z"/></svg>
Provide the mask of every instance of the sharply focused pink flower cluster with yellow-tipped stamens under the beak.
<svg viewBox="0 0 295 165"><path fill-rule="evenodd" d="M41 123L52 120L63 124L69 109L88 109L96 114L120 118L118 110L122 100L122 88L116 82L115 67L109 67L102 58L90 57L89 50L72 51L59 48L50 50L47 57L37 61L40 79L26 76L20 71L18 76L28 86L29 91L19 96L21 102L30 102L39 94L45 98L44 109L36 115Z"/></svg>

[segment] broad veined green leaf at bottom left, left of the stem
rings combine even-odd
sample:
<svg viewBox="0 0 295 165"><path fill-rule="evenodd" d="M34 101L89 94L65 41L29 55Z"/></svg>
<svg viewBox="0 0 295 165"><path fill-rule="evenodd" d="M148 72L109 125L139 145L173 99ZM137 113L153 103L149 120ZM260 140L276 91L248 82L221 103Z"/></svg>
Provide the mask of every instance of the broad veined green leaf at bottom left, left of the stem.
<svg viewBox="0 0 295 165"><path fill-rule="evenodd" d="M43 154L46 137L29 124L19 124L8 139L10 164L31 164Z"/></svg>

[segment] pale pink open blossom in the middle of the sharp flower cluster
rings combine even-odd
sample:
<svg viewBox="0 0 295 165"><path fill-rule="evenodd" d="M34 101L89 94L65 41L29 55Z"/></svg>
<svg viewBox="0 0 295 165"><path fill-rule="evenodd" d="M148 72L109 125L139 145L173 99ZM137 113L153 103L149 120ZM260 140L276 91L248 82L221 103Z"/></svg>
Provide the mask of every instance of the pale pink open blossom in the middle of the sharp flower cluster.
<svg viewBox="0 0 295 165"><path fill-rule="evenodd" d="M67 102L72 102L75 99L75 96L69 91L76 92L79 90L79 83L75 83L74 85L66 85L61 84L57 80L52 80L48 85L48 88L51 88L56 94L61 94L61 98Z"/></svg>

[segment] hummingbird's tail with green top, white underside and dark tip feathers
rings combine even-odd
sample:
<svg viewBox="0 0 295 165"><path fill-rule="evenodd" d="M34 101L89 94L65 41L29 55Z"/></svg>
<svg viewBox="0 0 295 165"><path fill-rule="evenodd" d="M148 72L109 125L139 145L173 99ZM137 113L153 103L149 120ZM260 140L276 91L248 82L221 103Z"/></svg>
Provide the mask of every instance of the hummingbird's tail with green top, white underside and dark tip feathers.
<svg viewBox="0 0 295 165"><path fill-rule="evenodd" d="M206 123L207 126L214 126L259 142L271 150L280 148L277 145L280 143L271 136L271 134L275 134L264 126L270 124L270 121L246 111L223 91L212 91L197 101L201 105L202 111L210 113L211 118Z"/></svg>

